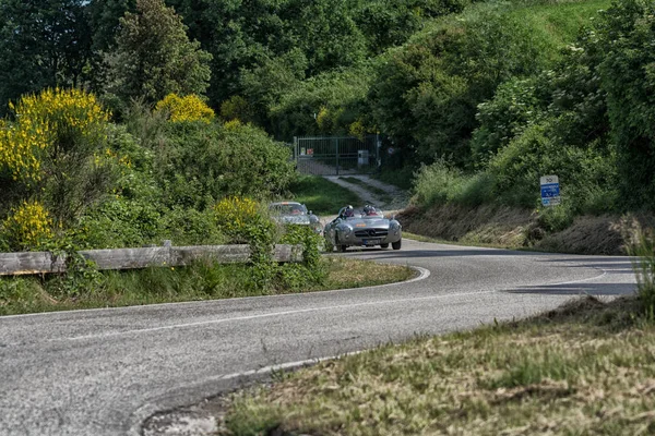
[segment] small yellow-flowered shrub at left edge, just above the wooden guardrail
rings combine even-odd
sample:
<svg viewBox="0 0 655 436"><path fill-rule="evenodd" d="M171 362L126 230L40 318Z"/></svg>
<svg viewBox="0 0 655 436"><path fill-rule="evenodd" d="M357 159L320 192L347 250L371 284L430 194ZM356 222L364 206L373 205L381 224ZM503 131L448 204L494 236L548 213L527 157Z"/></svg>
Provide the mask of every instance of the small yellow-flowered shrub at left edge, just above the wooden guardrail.
<svg viewBox="0 0 655 436"><path fill-rule="evenodd" d="M2 222L3 233L12 249L36 249L52 238L52 219L38 202L23 202L11 209Z"/></svg>

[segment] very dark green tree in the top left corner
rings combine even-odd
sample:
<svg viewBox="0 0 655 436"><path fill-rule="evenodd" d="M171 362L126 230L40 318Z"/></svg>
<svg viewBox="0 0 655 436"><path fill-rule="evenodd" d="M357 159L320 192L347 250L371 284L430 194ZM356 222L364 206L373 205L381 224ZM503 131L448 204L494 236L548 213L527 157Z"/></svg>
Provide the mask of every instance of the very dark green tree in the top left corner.
<svg viewBox="0 0 655 436"><path fill-rule="evenodd" d="M45 87L75 86L91 58L85 0L0 0L0 114Z"/></svg>

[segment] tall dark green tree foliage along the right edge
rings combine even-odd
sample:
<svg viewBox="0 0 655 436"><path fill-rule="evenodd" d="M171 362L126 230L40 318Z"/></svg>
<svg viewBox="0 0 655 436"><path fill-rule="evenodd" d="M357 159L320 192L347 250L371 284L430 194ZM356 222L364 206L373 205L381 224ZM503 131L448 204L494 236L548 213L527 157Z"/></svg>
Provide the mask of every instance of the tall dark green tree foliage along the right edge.
<svg viewBox="0 0 655 436"><path fill-rule="evenodd" d="M619 153L622 197L655 208L655 4L615 1L596 26L598 66Z"/></svg>

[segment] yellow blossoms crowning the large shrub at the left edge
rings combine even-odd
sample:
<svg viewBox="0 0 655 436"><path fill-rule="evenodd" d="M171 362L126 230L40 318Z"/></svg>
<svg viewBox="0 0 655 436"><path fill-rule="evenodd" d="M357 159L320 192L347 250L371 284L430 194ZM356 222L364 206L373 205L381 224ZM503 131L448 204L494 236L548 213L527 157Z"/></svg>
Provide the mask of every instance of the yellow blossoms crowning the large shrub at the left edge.
<svg viewBox="0 0 655 436"><path fill-rule="evenodd" d="M27 182L41 179L44 152L67 152L71 138L99 140L109 121L95 96L81 89L45 89L23 96L10 109L16 121L0 122L0 169Z"/></svg>

